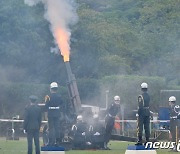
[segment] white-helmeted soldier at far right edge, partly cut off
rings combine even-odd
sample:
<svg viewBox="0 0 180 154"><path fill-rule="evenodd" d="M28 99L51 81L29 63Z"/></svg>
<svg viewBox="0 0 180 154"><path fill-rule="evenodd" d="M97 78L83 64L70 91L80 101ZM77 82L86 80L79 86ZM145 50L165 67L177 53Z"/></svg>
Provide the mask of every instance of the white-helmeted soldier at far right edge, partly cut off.
<svg viewBox="0 0 180 154"><path fill-rule="evenodd" d="M169 106L170 106L170 132L172 136L172 142L175 142L177 145L178 142L178 122L179 120L179 112L180 107L179 105L176 105L176 97L171 96L169 97ZM176 151L176 147L172 149L173 151Z"/></svg>

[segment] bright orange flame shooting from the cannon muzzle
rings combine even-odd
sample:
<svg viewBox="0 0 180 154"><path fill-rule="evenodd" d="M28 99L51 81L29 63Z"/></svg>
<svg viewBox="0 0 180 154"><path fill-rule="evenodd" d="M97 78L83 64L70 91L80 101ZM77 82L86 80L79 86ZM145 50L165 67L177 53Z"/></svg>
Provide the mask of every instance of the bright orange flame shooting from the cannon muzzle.
<svg viewBox="0 0 180 154"><path fill-rule="evenodd" d="M55 30L55 38L61 55L64 57L64 62L69 61L70 46L69 46L69 33L64 29L58 28Z"/></svg>

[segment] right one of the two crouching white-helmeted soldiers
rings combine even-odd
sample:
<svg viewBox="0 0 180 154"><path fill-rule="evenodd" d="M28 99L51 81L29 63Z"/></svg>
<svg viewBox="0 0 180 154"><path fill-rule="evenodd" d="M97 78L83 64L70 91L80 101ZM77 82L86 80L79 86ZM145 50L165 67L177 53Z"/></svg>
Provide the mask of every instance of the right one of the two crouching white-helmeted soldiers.
<svg viewBox="0 0 180 154"><path fill-rule="evenodd" d="M105 142L105 127L99 121L97 114L93 116L93 123L89 128L91 147L95 149L104 149Z"/></svg>

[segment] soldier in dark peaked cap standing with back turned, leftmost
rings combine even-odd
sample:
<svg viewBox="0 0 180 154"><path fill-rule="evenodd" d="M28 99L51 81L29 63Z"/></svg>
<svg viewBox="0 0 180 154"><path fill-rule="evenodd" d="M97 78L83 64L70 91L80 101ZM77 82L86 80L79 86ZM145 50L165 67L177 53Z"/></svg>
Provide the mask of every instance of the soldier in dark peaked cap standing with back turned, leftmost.
<svg viewBox="0 0 180 154"><path fill-rule="evenodd" d="M28 154L32 154L32 140L34 138L36 154L40 154L39 130L41 126L41 109L36 104L37 97L29 97L30 105L25 109L24 130L27 133Z"/></svg>

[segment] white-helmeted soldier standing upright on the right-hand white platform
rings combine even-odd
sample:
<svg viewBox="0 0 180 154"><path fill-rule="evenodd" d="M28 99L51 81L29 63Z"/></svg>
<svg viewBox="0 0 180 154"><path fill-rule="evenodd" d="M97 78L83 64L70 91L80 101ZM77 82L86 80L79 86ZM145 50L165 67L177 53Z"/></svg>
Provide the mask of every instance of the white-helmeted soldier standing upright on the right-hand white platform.
<svg viewBox="0 0 180 154"><path fill-rule="evenodd" d="M141 84L141 91L142 95L138 96L138 117L137 117L137 137L138 141L136 145L142 145L142 132L143 126L145 129L145 137L146 142L149 141L150 137L150 110L149 110L149 103L150 103L150 96L147 92L148 84L142 83Z"/></svg>

